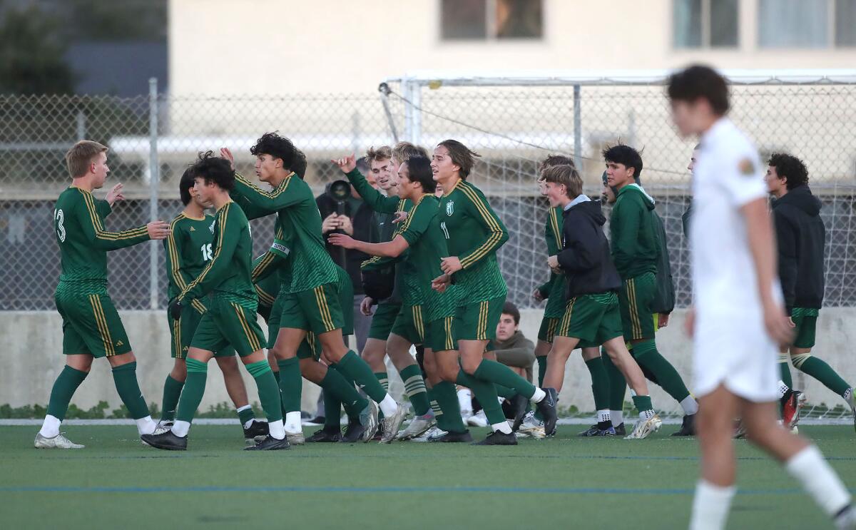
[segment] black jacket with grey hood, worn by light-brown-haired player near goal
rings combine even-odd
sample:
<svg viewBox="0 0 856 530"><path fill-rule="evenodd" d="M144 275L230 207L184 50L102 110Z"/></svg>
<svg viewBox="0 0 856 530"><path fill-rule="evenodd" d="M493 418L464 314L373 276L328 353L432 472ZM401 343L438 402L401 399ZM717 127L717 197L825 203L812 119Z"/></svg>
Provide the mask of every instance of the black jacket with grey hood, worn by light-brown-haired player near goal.
<svg viewBox="0 0 856 530"><path fill-rule="evenodd" d="M600 211L600 202L581 202L564 211L563 217L562 251L557 258L568 277L566 298L621 289L621 277L603 234L606 217Z"/></svg>

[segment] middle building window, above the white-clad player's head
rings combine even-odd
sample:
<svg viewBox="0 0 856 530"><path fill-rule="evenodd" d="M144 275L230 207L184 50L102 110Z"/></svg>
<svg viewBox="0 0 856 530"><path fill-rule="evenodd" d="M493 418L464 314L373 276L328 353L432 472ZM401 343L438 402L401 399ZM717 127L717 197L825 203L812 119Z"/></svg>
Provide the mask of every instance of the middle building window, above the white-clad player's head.
<svg viewBox="0 0 856 530"><path fill-rule="evenodd" d="M675 48L737 46L738 0L674 0L672 32Z"/></svg>

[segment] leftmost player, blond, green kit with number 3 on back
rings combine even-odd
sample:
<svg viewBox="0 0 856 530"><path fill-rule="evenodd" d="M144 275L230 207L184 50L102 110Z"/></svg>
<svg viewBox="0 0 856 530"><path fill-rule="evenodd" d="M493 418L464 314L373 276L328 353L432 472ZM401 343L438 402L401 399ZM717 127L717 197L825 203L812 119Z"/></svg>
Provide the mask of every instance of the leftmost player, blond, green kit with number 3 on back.
<svg viewBox="0 0 856 530"><path fill-rule="evenodd" d="M34 445L38 449L82 449L65 438L59 427L74 391L83 383L92 360L106 357L122 402L137 423L140 434L156 428L137 383L137 361L119 313L107 294L107 252L143 241L163 239L169 226L152 221L135 229L114 232L104 229L104 217L116 200L123 199L122 184L116 184L107 200L96 199L93 189L104 186L107 147L98 142L79 141L65 155L71 186L56 199L53 223L62 259L56 286L56 309L62 315L62 353L66 365L51 389L51 401Z"/></svg>

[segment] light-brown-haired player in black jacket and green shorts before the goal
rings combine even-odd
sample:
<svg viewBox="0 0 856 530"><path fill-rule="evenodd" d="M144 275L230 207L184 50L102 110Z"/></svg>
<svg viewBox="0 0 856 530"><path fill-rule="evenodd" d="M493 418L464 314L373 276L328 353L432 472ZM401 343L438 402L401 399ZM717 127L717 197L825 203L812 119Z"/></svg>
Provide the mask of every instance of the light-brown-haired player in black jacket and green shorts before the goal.
<svg viewBox="0 0 856 530"><path fill-rule="evenodd" d="M582 193L580 174L569 165L556 165L544 171L544 187L551 206L562 206L562 251L547 259L554 271L567 277L565 315L556 330L544 385L550 394L562 389L565 363L581 341L603 344L609 358L625 375L636 396L639 422L627 438L646 438L662 422L654 413L645 376L627 352L621 331L621 314L616 292L621 277L609 256L609 242L603 234L606 217L600 202ZM544 419L544 431L550 432Z"/></svg>

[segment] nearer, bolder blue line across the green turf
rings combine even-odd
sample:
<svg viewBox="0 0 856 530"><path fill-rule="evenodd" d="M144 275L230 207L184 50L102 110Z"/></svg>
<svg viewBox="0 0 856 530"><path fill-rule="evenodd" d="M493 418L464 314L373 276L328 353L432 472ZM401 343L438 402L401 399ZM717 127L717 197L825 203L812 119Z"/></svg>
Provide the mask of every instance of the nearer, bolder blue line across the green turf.
<svg viewBox="0 0 856 530"><path fill-rule="evenodd" d="M596 495L693 495L694 488L526 488L500 486L5 486L3 493L534 493L534 494L596 494ZM740 495L805 494L798 488L777 490L738 490ZM856 490L851 490L856 492Z"/></svg>

